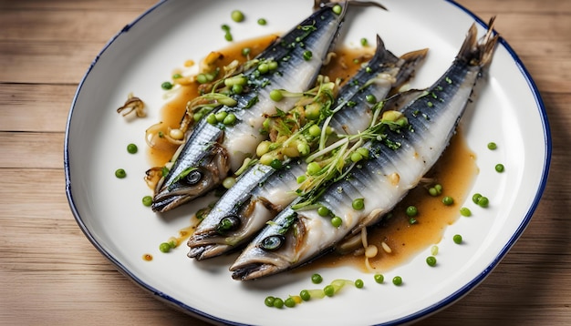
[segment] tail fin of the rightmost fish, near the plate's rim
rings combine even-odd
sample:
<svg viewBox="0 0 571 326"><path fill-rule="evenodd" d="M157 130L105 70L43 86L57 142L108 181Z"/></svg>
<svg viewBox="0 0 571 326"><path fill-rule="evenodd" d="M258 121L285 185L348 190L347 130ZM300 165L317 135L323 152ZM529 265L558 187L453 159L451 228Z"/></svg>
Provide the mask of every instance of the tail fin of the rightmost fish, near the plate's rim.
<svg viewBox="0 0 571 326"><path fill-rule="evenodd" d="M499 39L499 35L493 32L495 16L490 19L488 31L478 39L478 30L472 24L466 36L456 60L466 62L470 66L487 66L492 61L493 51Z"/></svg>

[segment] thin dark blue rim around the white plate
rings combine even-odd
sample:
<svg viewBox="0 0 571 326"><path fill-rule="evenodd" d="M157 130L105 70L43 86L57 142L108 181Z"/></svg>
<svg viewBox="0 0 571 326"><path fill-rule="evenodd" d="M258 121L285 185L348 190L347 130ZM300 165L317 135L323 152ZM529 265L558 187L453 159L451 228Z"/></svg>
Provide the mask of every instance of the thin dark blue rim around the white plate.
<svg viewBox="0 0 571 326"><path fill-rule="evenodd" d="M477 15L474 15L471 11L469 11L467 8L463 7L462 5L459 5L452 0L443 0L443 1L450 3L451 5L456 6L457 8L461 9L465 14L470 15L477 22L477 24L484 26L484 27L486 26L486 24L483 22L482 19L480 19ZM78 85L78 89L77 89L76 94L74 96L71 108L70 108L69 115L67 117L65 148L64 148L64 168L65 168L65 178L66 178L67 199L68 199L68 202L70 205L70 209L71 209L75 219L78 222L78 226L80 227L80 229L82 229L83 233L86 235L86 237L89 239L89 241L93 244L93 246L97 250L99 250L99 252L104 257L106 257L109 261L111 261L117 267L117 269L120 272L125 274L127 277L129 277L131 280L133 280L135 283L139 284L143 289L149 290L157 298L159 298L163 301L170 302L171 304L182 309L183 311L189 312L192 315L197 316L199 318L202 318L206 321L223 323L223 324L241 325L242 323L225 320L225 319L217 317L213 314L210 314L210 313L207 313L205 311L198 310L192 306L189 306L188 304L186 304L182 301L178 301L178 300L172 298L169 294L167 294L167 293L165 293L159 289L156 289L155 287L151 286L150 284L148 284L144 280L141 280L138 275L133 273L129 268L125 267L124 264L121 263L121 261L116 259L113 255L111 255L108 252L108 250L104 249L103 246L101 246L101 244L98 242L98 240L92 234L92 230L88 228L88 225L86 225L85 220L82 219L82 217L80 216L79 209L78 209L77 204L76 204L76 200L74 200L74 193L73 193L73 186L74 186L73 182L74 182L74 180L72 180L71 172L70 172L71 162L70 162L70 158L69 158L69 136L70 136L70 126L73 122L74 111L77 109L76 106L77 106L78 97L81 94L82 88L84 87L84 83L86 82L86 79L88 78L89 74L92 72L94 67L96 67L98 65L101 56L104 56L106 54L106 52L109 49L109 46L112 46L119 39L119 36L123 36L123 35L129 33L130 29L134 25L137 25L141 19L143 19L147 15L150 15L156 9L160 8L161 5L164 5L167 2L168 1L165 0L165 1L161 1L160 3L158 3L156 5L153 5L150 9L148 9L146 12L144 12L142 15L140 15L138 18L136 18L132 23L130 23L129 25L126 25L121 31L119 31L119 33L117 35L113 36L109 40L109 42L103 47L103 49L99 52L99 54L95 57L95 59L93 60L91 65L88 67L88 71L86 72L85 76L83 76L82 80L80 81L80 83ZM533 96L535 98L535 105L536 105L536 107L538 107L539 115L542 119L541 124L543 126L543 137L544 137L543 141L545 143L545 161L543 164L542 175L540 178L541 181L540 181L539 187L536 188L535 197L532 201L530 208L527 210L527 212L524 216L524 219L522 219L521 224L516 229L516 231L514 232L514 234L511 237L511 239L509 239L509 241L507 243L505 243L504 248L497 253L495 259L476 278L467 282L462 288L454 291L451 295L449 295L444 300L435 302L431 306L428 306L428 307L426 307L420 311L415 311L413 313L410 313L409 315L404 316L400 319L397 319L394 321L389 321L388 323L383 323L383 324L400 324L403 322L416 321L420 318L426 317L426 316L430 315L431 313L434 313L436 311L440 311L442 308L452 304L452 302L459 300L460 298L462 298L462 296L467 294L470 290L472 290L479 283L481 283L490 274L490 272L497 266L497 264L500 262L500 260L502 260L504 258L505 254L514 246L515 241L517 239L519 239L519 237L522 235L522 233L524 232L524 229L527 227L529 221L531 220L531 218L534 214L534 211L535 211L535 209L539 203L539 200L541 199L541 196L544 192L545 183L546 183L548 171L549 171L549 165L550 165L550 161L551 161L551 152L552 152L552 140L551 140L551 134L550 134L550 129L549 129L549 123L548 123L546 112L545 112L545 105L544 105L544 102L543 102L543 100L539 94L537 87L535 86L534 80L532 79L532 77L528 73L527 69L524 67L524 64L522 63L520 58L515 54L513 48L511 46L509 46L503 38L500 38L499 44L501 46L504 46L504 48L507 50L509 55L512 56L515 65L518 67L522 76L524 76L524 79L527 83L527 86L530 88L531 92L533 93Z"/></svg>

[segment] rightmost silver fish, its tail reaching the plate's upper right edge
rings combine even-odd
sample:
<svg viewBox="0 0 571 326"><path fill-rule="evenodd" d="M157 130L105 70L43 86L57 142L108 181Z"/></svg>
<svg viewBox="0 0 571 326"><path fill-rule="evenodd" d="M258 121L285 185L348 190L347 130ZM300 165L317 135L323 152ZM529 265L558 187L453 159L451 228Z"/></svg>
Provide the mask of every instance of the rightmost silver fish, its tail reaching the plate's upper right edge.
<svg viewBox="0 0 571 326"><path fill-rule="evenodd" d="M329 217L319 216L317 209L289 206L234 261L232 277L253 280L312 260L378 222L416 187L441 157L465 107L474 99L472 90L483 79L498 39L492 31L493 20L488 33L478 41L472 25L452 66L423 96L402 109L410 128L388 131L385 140L369 142L371 158L361 168L352 168L348 178L331 184L317 199L342 219L339 227L334 227ZM353 209L354 199L364 199L365 208Z"/></svg>

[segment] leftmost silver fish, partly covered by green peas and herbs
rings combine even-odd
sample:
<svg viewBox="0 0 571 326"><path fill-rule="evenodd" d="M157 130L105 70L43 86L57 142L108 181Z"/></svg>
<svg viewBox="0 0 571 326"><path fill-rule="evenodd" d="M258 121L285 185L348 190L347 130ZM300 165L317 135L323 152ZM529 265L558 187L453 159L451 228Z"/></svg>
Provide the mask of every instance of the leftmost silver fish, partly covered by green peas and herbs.
<svg viewBox="0 0 571 326"><path fill-rule="evenodd" d="M341 6L341 12L333 8ZM346 2L321 6L313 15L296 25L256 58L278 63L275 72L260 75L257 66L244 72L251 89L235 96L235 107L221 106L217 112L233 113L234 126L199 121L169 174L157 185L151 208L157 212L174 209L222 183L229 170L236 170L244 158L252 156L264 136L259 129L266 115L275 107L287 111L295 99L284 98L275 103L269 97L273 89L304 92L311 87L335 43L347 12ZM308 51L308 52L307 52ZM306 60L304 53L311 53Z"/></svg>

